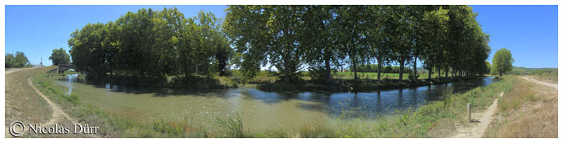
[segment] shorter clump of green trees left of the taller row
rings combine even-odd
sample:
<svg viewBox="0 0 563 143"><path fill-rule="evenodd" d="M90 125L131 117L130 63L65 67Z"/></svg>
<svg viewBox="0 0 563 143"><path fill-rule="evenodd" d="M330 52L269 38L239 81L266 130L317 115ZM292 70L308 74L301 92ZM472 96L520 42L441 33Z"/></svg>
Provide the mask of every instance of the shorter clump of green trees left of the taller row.
<svg viewBox="0 0 563 143"><path fill-rule="evenodd" d="M220 24L213 13L185 18L177 8L143 8L77 29L68 46L73 64L93 79L107 74L224 75L232 52Z"/></svg>

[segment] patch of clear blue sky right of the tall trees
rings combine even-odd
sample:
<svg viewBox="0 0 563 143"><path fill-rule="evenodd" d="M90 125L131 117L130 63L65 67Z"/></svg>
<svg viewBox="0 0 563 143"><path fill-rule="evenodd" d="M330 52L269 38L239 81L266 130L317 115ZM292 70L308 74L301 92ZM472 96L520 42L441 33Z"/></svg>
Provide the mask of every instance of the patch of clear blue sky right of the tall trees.
<svg viewBox="0 0 563 143"><path fill-rule="evenodd" d="M495 51L507 48L518 67L557 67L557 6L473 6Z"/></svg>

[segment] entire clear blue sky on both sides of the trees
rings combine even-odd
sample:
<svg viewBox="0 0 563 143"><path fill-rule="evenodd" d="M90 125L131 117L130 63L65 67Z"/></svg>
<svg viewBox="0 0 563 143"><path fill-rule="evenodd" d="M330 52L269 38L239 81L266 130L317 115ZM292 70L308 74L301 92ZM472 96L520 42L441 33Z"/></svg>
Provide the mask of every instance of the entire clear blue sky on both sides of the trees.
<svg viewBox="0 0 563 143"><path fill-rule="evenodd" d="M33 64L51 65L53 48L69 50L70 32L87 23L117 20L139 8L165 6L6 6L6 53L23 51ZM172 7L172 6L166 6ZM211 11L223 18L227 6L176 6L186 17ZM557 6L473 6L483 30L491 34L492 60L508 48L519 67L557 67Z"/></svg>

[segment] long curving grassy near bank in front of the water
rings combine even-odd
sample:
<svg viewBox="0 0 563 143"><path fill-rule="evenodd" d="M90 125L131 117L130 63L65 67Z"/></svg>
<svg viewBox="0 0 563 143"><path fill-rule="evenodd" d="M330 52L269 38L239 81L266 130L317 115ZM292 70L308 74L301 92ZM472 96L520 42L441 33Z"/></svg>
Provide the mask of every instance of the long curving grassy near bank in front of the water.
<svg viewBox="0 0 563 143"><path fill-rule="evenodd" d="M476 88L464 94L445 92L443 101L431 102L415 111L397 112L386 118L336 118L334 123L308 123L292 130L270 129L250 131L241 118L216 118L218 130L209 130L184 121L156 120L139 123L123 116L109 114L92 104L82 102L77 95L65 95L55 87L50 76L34 76L34 85L63 110L79 121L100 126L103 137L443 137L451 128L464 123L465 104L485 109L501 91L509 91L514 79L503 79L486 88Z"/></svg>

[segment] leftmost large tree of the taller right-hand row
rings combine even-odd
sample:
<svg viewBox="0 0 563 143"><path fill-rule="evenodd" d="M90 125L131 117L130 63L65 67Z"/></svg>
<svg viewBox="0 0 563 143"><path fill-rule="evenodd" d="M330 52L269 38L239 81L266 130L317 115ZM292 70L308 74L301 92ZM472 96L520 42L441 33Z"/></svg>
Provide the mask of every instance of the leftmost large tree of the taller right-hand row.
<svg viewBox="0 0 563 143"><path fill-rule="evenodd" d="M225 32L240 53L241 70L253 78L260 66L270 64L286 83L298 80L303 64L299 32L304 6L229 6Z"/></svg>

